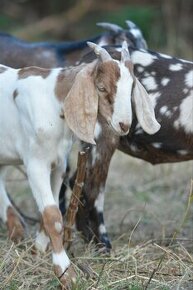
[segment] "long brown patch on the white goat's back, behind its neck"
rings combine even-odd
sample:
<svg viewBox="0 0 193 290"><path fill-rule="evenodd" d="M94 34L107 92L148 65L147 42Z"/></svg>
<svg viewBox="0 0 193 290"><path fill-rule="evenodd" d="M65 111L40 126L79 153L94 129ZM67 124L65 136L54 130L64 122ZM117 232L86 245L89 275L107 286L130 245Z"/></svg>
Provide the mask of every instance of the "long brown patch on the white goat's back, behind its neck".
<svg viewBox="0 0 193 290"><path fill-rule="evenodd" d="M40 76L45 79L49 76L50 72L50 69L44 69L36 66L24 67L18 71L18 79L25 79L30 76Z"/></svg>

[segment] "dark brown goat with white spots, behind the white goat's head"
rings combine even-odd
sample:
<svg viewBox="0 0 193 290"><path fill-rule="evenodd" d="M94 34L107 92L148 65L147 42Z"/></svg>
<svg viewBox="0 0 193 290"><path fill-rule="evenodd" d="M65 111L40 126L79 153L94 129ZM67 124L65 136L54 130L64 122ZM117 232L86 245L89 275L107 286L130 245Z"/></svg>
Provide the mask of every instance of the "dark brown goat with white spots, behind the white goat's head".
<svg viewBox="0 0 193 290"><path fill-rule="evenodd" d="M119 47L109 47L109 53L116 59L120 58L119 51ZM103 217L104 193L115 150L151 164L193 159L193 63L132 47L129 51L133 64L131 75L134 74L148 92L161 129L156 134L147 134L137 112L133 111L126 136L119 137L103 127L99 131L97 145L91 148L82 203L77 214L77 228L87 241L94 240L107 251L111 249L111 243ZM90 54L83 61L91 59ZM133 85L135 87L135 82ZM132 96L134 107L135 91ZM74 176L70 180L71 187L73 183Z"/></svg>

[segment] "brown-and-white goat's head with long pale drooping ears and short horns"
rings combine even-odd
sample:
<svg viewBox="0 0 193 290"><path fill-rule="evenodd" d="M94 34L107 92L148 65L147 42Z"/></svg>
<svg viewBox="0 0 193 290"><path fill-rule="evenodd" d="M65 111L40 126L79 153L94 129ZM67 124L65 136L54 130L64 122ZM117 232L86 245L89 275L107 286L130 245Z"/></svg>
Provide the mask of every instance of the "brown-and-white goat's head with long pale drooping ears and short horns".
<svg viewBox="0 0 193 290"><path fill-rule="evenodd" d="M88 43L98 60L87 64L76 76L64 101L64 115L70 129L82 141L95 144L94 130L100 115L117 135L131 127L132 101L142 128L154 134L160 128L146 90L135 78L126 42L121 61L112 59L99 45Z"/></svg>

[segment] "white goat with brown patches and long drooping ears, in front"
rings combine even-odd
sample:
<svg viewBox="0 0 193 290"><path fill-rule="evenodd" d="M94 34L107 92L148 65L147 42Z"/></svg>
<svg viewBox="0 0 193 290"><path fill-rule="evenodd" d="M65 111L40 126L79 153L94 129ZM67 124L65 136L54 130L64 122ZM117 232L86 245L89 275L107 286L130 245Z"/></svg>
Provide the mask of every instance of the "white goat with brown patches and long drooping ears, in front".
<svg viewBox="0 0 193 290"><path fill-rule="evenodd" d="M97 119L119 136L128 133L132 122L134 76L127 65L127 45L122 47L121 61L104 48L89 45L98 55L89 64L66 69L0 66L0 217L10 236L19 239L21 224L14 220L5 176L8 165L24 164L43 222L36 246L45 250L51 240L55 273L64 285L73 274L63 248L58 195L73 133L95 144L100 134ZM136 78L134 91L141 126L148 133L157 132L160 125L152 102Z"/></svg>

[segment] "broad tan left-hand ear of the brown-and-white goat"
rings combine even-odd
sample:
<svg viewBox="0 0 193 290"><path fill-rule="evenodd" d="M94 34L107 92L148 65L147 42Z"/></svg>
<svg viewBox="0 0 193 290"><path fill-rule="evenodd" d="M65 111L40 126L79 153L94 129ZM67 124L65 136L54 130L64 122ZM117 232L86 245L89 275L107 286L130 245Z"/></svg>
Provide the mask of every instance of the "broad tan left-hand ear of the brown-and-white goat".
<svg viewBox="0 0 193 290"><path fill-rule="evenodd" d="M98 95L92 72L96 62L83 68L76 76L64 100L64 117L74 134L82 141L95 144L94 129L98 113Z"/></svg>

